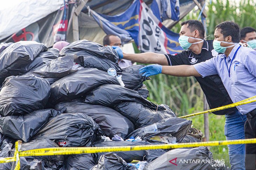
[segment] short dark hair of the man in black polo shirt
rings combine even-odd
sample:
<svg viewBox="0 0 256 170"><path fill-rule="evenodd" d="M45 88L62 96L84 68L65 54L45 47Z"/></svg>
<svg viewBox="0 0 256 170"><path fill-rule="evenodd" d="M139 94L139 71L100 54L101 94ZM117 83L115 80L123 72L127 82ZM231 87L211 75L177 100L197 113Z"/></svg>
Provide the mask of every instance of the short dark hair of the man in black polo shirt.
<svg viewBox="0 0 256 170"><path fill-rule="evenodd" d="M193 32L195 30L198 30L199 32L199 36L201 38L204 38L204 27L203 27L203 23L201 21L197 21L197 20L187 20L181 23L182 25L186 25L188 24L188 28L190 30L190 32Z"/></svg>

